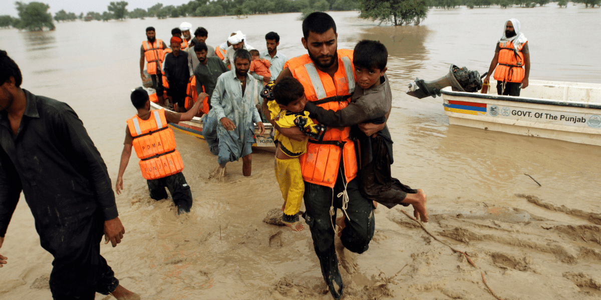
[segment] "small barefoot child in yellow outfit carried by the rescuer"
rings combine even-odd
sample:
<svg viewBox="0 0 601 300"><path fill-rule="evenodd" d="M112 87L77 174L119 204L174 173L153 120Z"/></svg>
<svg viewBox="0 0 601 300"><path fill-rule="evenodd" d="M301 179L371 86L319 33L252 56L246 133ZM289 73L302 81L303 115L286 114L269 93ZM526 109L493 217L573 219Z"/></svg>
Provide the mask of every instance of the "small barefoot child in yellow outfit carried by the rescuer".
<svg viewBox="0 0 601 300"><path fill-rule="evenodd" d="M271 117L281 128L300 127L307 136L322 140L326 127L314 124L309 113L304 112L305 89L293 77L285 77L273 86L273 98L269 101ZM302 142L288 139L276 133L278 149L275 152L275 178L284 197L282 205L282 222L294 231L301 231L305 226L299 223L298 212L305 193L305 182L302 178L299 156L307 151L307 139Z"/></svg>

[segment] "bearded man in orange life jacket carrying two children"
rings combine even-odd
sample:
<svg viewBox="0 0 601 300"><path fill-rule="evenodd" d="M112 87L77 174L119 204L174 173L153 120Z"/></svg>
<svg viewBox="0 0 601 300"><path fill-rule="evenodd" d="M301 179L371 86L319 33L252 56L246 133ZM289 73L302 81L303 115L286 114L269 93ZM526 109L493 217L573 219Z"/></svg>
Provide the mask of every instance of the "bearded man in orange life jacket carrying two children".
<svg viewBox="0 0 601 300"><path fill-rule="evenodd" d="M278 80L292 76L304 86L307 100L326 109L343 109L349 105L350 95L355 89L353 51L337 49L336 24L326 13L310 14L303 21L302 29L302 43L308 54L288 60ZM269 118L266 101L262 109ZM370 123L363 124L361 128L371 135L384 126L385 123ZM276 128L291 139L304 139L297 128ZM357 160L350 127L328 130L322 142L309 139L307 153L300 160L307 208L304 217L311 230L323 279L332 296L340 299L343 282L336 251L346 258L349 258L347 250L355 253L367 251L375 228L372 202L361 195L356 179ZM335 246L334 220L338 208L343 209L345 227L340 236L341 244L337 241ZM354 263L344 259L342 262L347 271L353 272Z"/></svg>

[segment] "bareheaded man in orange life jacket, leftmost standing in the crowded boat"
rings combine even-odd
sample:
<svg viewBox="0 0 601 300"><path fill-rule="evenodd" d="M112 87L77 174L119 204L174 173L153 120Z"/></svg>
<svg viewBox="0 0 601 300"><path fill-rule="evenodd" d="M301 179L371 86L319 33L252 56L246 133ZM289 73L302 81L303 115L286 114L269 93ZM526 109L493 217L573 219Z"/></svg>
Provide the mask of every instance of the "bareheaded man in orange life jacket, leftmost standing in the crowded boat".
<svg viewBox="0 0 601 300"><path fill-rule="evenodd" d="M162 95L162 64L160 62L160 58L163 55L163 50L167 49L167 45L162 40L156 39L156 32L152 26L146 28L146 38L147 41L142 41L142 47L140 50L140 76L142 79L146 77L144 74L145 60L147 61L146 72L152 79L153 88L156 90L157 95ZM159 76L157 76L157 74L159 74ZM165 105L163 102L163 97L159 97L159 104L161 106Z"/></svg>

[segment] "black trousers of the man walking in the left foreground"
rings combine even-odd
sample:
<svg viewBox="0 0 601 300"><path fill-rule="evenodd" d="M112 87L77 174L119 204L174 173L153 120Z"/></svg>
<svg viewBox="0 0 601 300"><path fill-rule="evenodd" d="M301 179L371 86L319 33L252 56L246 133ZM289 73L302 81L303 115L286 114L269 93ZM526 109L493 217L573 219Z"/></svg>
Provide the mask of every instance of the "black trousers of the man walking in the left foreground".
<svg viewBox="0 0 601 300"><path fill-rule="evenodd" d="M96 292L108 295L117 289L119 280L100 255L102 212L61 225L53 238L40 236L42 247L54 256L50 272L52 298L90 300Z"/></svg>

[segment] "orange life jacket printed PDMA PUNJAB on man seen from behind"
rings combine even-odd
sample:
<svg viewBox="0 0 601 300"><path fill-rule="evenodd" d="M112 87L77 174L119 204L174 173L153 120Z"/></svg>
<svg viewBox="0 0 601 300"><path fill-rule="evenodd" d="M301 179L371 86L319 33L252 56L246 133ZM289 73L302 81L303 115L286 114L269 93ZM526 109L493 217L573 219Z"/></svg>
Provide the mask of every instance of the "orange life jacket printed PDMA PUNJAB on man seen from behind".
<svg viewBox="0 0 601 300"><path fill-rule="evenodd" d="M159 179L182 172L184 164L180 152L175 150L173 131L167 127L165 109L151 110L147 120L135 115L127 120L127 127L145 179Z"/></svg>

